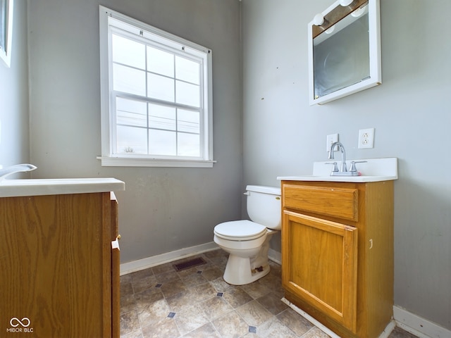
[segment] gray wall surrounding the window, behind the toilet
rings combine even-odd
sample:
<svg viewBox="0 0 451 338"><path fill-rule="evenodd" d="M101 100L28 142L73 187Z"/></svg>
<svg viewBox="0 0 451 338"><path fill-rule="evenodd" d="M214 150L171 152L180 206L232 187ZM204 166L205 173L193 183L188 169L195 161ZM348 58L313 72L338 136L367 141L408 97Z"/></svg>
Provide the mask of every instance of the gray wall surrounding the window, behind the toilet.
<svg viewBox="0 0 451 338"><path fill-rule="evenodd" d="M99 4L213 50L214 168L101 167ZM125 181L122 263L212 242L214 225L240 218L237 0L31 0L28 15L34 177Z"/></svg>

